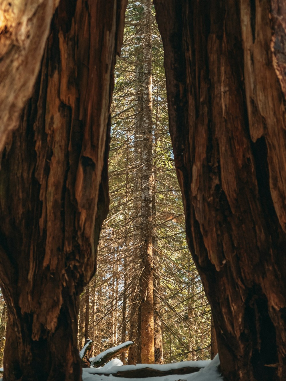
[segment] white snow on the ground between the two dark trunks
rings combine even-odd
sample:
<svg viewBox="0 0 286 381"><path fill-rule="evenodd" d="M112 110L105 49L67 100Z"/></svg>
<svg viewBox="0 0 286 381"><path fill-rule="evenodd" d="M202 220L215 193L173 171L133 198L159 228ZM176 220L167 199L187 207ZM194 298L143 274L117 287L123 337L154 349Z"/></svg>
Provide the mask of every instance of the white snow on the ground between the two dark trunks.
<svg viewBox="0 0 286 381"><path fill-rule="evenodd" d="M112 360L111 360L112 361ZM183 365L184 364L184 365ZM114 367L114 363L112 366L107 363L102 368L84 368L82 372L83 381L178 381L179 379L182 381L222 381L223 378L220 375L217 367L219 366L219 356L216 355L214 360L212 361L185 361L181 363L174 364L164 364L164 365L146 365L146 364L138 364L138 365L122 365L120 370L132 370L132 369L141 369L145 368L153 368L157 370L171 370L185 367L204 367L200 369L198 372L192 373L190 375L172 375L172 376L159 376L159 377L148 377L148 378L124 378L124 377L115 377L111 374L109 376L101 376L96 373L115 373L118 368ZM105 368L109 365L107 368ZM118 363L119 365L119 363Z"/></svg>

